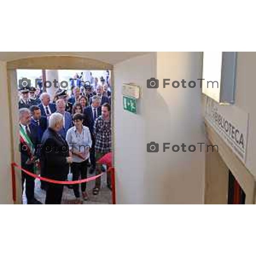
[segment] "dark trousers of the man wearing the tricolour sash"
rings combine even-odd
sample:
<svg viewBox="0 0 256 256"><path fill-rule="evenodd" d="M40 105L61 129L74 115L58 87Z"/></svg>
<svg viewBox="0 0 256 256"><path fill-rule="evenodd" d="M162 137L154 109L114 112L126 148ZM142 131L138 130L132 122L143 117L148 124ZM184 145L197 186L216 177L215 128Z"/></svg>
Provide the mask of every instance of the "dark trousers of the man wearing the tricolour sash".
<svg viewBox="0 0 256 256"><path fill-rule="evenodd" d="M34 173L34 165L26 165L22 164L22 168L28 170L29 172ZM29 204L30 201L33 201L35 198L35 179L26 173L22 172L21 174L22 179L22 191L24 186L24 181L26 180L26 198L27 203Z"/></svg>

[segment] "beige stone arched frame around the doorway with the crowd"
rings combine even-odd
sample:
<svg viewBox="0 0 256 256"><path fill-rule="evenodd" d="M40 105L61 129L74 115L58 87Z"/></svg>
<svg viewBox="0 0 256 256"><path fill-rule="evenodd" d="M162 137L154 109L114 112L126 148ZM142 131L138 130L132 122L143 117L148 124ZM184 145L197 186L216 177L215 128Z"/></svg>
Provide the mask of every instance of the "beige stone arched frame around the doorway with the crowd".
<svg viewBox="0 0 256 256"><path fill-rule="evenodd" d="M20 165L19 152L19 116L18 116L18 92L17 92L17 69L41 69L41 70L111 70L111 86L114 90L113 65L103 61L77 56L41 56L22 58L7 62L7 83L11 124L11 159ZM112 119L112 145L114 145L114 119L113 105L114 93L111 98ZM114 154L113 154L114 156ZM114 161L113 161L114 163ZM10 172L11 173L11 172ZM22 204L21 173L16 172L16 204Z"/></svg>

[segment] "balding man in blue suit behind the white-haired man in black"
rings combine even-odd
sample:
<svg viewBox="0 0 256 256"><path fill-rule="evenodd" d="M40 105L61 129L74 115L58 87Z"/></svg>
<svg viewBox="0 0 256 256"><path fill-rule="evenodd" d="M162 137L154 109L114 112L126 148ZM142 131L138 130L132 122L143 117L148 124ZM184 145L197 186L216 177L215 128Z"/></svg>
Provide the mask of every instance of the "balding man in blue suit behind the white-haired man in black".
<svg viewBox="0 0 256 256"><path fill-rule="evenodd" d="M66 108L66 102L64 99L58 99L56 101L56 113L61 113L63 115L63 127L60 131L58 131L58 134L61 135L61 137L66 140L66 134L67 130L70 129L72 125L72 116L69 112L65 111Z"/></svg>

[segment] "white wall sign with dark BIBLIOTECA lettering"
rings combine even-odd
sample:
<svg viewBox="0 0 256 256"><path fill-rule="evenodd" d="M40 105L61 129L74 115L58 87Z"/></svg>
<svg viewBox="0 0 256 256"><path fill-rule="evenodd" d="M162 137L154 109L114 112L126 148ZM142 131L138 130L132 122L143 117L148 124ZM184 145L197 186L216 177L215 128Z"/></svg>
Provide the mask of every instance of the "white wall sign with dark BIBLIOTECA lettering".
<svg viewBox="0 0 256 256"><path fill-rule="evenodd" d="M245 164L248 113L234 105L219 105L207 97L205 119Z"/></svg>

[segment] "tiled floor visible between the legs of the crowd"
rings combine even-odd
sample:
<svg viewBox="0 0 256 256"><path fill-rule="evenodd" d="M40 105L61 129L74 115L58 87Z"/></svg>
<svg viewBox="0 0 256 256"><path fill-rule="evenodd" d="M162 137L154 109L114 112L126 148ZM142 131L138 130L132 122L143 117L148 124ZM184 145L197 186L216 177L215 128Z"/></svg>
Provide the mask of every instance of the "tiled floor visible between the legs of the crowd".
<svg viewBox="0 0 256 256"><path fill-rule="evenodd" d="M83 204L112 204L111 191L107 188L106 179L106 174L102 175L102 188L100 189L99 195L93 195L92 193L95 181L93 180L87 183L87 194L89 196L89 200L83 201ZM40 188L40 184L40 180L35 180L35 198L44 204L46 192ZM64 186L61 204L74 204L74 199L75 196L73 189L69 189L67 186ZM26 196L24 193L23 204L26 204Z"/></svg>

